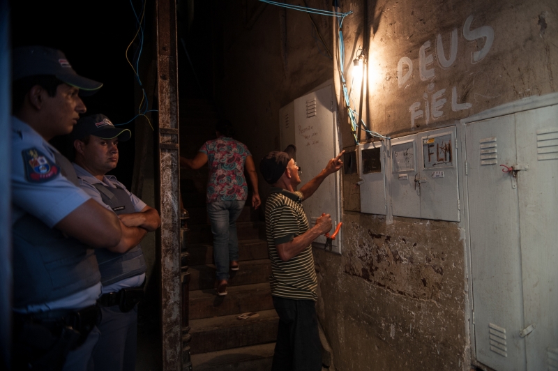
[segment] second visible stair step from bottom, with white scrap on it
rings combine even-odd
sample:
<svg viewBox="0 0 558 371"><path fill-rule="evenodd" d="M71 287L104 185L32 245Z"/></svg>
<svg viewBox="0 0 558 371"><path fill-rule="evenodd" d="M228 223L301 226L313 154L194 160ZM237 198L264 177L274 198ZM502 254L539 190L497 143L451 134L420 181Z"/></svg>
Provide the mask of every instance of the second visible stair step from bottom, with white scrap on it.
<svg viewBox="0 0 558 371"><path fill-rule="evenodd" d="M219 351L274 342L279 317L274 309L257 312L258 317L238 319L239 314L190 321L191 354Z"/></svg>

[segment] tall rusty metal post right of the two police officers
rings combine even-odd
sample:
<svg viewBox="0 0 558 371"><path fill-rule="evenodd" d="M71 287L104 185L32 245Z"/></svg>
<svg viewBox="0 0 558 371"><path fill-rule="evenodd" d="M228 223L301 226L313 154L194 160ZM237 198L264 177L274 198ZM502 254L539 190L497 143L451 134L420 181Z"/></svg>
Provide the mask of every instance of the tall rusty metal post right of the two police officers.
<svg viewBox="0 0 558 371"><path fill-rule="evenodd" d="M176 2L156 1L158 148L156 167L161 215L161 340L163 371L182 370L181 249L179 220L179 105L176 58Z"/></svg>

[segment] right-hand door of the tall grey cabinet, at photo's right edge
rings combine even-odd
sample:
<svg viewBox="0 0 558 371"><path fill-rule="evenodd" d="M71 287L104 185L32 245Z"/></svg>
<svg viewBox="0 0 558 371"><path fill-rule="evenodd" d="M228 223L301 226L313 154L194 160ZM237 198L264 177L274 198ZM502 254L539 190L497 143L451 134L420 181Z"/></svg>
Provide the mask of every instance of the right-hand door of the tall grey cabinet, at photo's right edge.
<svg viewBox="0 0 558 371"><path fill-rule="evenodd" d="M527 370L558 370L558 105L515 127Z"/></svg>

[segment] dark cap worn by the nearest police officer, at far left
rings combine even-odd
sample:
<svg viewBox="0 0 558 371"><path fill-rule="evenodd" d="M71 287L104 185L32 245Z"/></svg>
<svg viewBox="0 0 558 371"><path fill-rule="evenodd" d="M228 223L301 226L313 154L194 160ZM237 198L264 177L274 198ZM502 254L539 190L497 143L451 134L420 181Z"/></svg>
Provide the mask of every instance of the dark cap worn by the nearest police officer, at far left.
<svg viewBox="0 0 558 371"><path fill-rule="evenodd" d="M75 73L60 50L43 46L16 47L12 52L12 79L36 75L54 75L66 84L80 89L80 96L91 96L103 84Z"/></svg>

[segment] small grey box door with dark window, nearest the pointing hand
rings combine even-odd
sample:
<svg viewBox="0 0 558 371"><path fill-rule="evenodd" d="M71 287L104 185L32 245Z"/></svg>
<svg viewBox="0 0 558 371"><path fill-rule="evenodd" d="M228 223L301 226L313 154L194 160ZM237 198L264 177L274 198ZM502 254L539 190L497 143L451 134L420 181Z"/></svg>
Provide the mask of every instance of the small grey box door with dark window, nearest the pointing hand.
<svg viewBox="0 0 558 371"><path fill-rule="evenodd" d="M384 143L373 142L359 146L361 174L361 213L386 215L386 176Z"/></svg>

